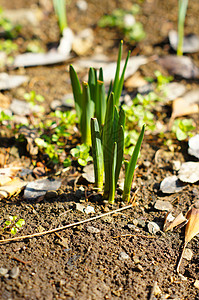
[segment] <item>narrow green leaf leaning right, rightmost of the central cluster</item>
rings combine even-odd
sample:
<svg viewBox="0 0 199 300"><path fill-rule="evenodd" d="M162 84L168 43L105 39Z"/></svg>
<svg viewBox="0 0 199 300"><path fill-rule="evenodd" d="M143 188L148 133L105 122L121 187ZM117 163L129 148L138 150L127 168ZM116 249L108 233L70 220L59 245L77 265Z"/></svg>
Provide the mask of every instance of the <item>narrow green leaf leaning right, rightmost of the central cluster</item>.
<svg viewBox="0 0 199 300"><path fill-rule="evenodd" d="M131 191L131 184L133 181L133 175L135 171L135 166L137 163L138 155L140 152L142 140L144 137L144 130L145 130L145 125L143 125L141 133L139 135L139 138L137 140L137 143L135 145L135 149L133 151L133 154L131 156L129 165L126 169L126 174L125 174L125 180L124 180L124 191L123 191L123 200L124 201L129 201L130 200L130 191Z"/></svg>

